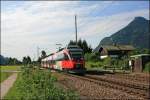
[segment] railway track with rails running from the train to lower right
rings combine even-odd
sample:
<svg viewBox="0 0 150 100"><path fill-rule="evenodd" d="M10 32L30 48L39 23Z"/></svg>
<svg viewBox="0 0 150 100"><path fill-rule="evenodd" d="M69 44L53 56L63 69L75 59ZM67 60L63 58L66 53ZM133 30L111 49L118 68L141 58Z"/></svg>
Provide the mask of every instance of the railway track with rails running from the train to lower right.
<svg viewBox="0 0 150 100"><path fill-rule="evenodd" d="M110 81L107 79L94 78L94 77L90 77L89 75L78 76L78 75L66 74L66 73L65 73L65 75L71 76L71 77L76 77L76 78L79 78L79 79L82 79L85 81L90 81L95 84L105 86L107 88L117 89L117 90L126 92L130 95L136 95L136 96L142 97L144 99L149 99L149 95L148 95L149 88L144 88L144 87L135 86L135 85L131 85L131 84L122 84L120 82Z"/></svg>

